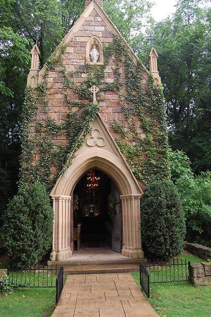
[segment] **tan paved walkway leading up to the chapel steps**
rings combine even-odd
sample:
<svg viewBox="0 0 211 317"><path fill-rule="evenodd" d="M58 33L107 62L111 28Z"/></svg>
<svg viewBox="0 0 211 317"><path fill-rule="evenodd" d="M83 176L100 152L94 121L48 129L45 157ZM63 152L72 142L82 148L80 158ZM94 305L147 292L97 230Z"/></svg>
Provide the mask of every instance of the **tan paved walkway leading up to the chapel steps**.
<svg viewBox="0 0 211 317"><path fill-rule="evenodd" d="M52 317L158 317L130 273L67 275Z"/></svg>

